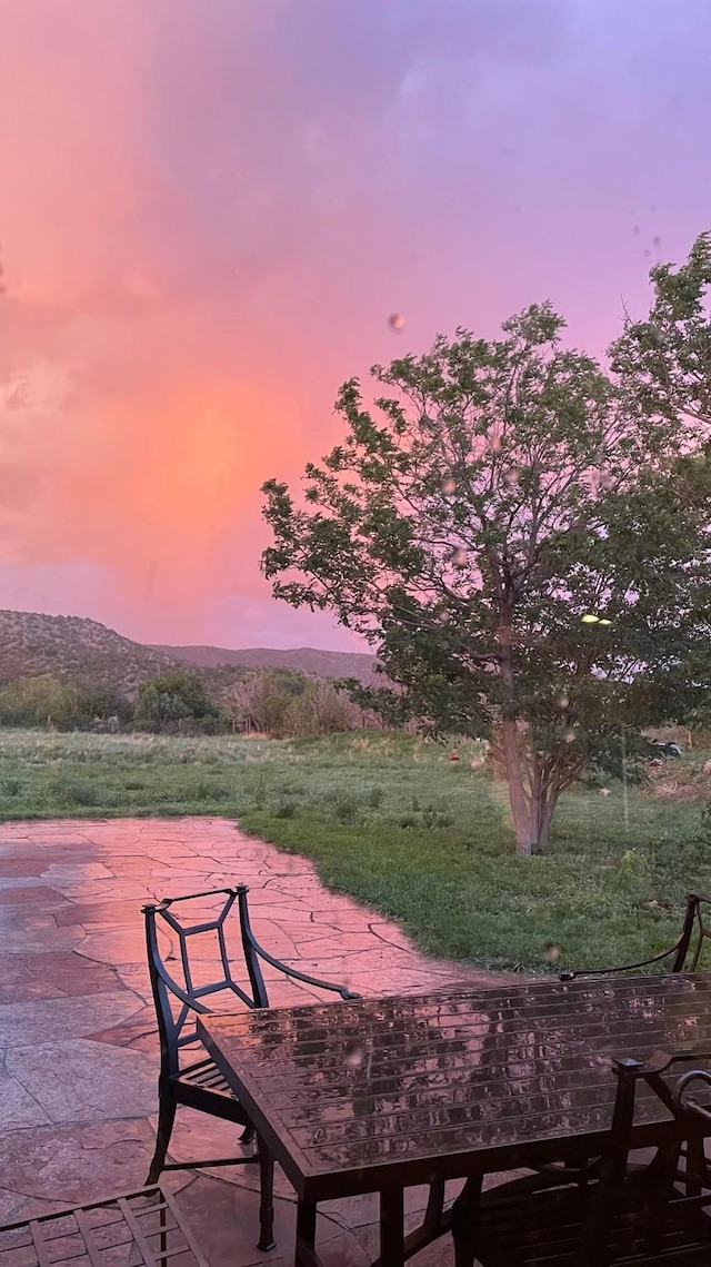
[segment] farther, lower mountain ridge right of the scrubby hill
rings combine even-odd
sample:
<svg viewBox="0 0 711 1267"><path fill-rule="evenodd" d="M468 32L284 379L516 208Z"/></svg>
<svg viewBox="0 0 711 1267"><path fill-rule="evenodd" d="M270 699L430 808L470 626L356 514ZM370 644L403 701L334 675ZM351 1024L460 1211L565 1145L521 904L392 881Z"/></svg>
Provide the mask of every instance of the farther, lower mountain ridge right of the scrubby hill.
<svg viewBox="0 0 711 1267"><path fill-rule="evenodd" d="M312 678L358 678L369 684L374 678L376 658L361 651L323 651L312 646L278 651L249 646L230 651L223 646L152 646L153 651L204 669L224 665L247 669L299 669Z"/></svg>

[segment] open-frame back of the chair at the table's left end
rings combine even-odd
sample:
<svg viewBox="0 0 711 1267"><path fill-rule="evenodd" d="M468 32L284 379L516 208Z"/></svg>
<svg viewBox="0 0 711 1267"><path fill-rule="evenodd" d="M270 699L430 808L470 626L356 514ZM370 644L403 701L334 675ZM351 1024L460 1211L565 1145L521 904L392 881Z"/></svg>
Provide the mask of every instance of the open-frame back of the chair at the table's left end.
<svg viewBox="0 0 711 1267"><path fill-rule="evenodd" d="M245 1007L268 1007L247 893L247 884L237 884L142 907L161 1064L170 1077L178 1072L181 1048L197 1041L197 1014L213 1010L205 1000L224 992ZM235 925L238 936L230 938Z"/></svg>

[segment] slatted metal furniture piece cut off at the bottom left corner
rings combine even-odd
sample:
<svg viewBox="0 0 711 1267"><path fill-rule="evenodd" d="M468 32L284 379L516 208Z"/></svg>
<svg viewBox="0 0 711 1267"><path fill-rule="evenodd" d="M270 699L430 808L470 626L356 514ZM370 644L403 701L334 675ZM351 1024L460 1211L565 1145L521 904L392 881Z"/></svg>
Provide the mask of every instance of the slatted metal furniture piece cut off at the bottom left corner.
<svg viewBox="0 0 711 1267"><path fill-rule="evenodd" d="M5 1267L207 1267L172 1197L158 1187L0 1228Z"/></svg>

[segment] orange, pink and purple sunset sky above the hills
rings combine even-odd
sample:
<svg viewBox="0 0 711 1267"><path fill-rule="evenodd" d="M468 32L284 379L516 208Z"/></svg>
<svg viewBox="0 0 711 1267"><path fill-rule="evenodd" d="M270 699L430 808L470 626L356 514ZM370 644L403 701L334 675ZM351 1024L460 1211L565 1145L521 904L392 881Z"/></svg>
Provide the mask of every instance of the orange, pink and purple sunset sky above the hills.
<svg viewBox="0 0 711 1267"><path fill-rule="evenodd" d="M708 0L3 0L0 48L3 608L354 647L259 573L340 383L544 299L603 355L711 229Z"/></svg>

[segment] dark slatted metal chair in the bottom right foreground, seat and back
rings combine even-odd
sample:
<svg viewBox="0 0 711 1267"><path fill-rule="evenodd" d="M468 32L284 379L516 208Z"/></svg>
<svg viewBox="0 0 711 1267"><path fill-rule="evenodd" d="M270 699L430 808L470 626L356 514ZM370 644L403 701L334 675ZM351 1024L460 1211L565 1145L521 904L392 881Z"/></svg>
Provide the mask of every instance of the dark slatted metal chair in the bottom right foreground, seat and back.
<svg viewBox="0 0 711 1267"><path fill-rule="evenodd" d="M586 1182L558 1186L515 1181L481 1196L469 1178L452 1209L455 1267L707 1267L711 1262L711 1169L703 1140L711 1134L711 1052L657 1053L650 1060L614 1062L617 1093L612 1129ZM646 1167L630 1167L638 1092L649 1088L667 1111L658 1149ZM706 1105L696 1093L703 1090ZM691 1093L689 1093L691 1092ZM684 1148L686 1166L679 1171Z"/></svg>

